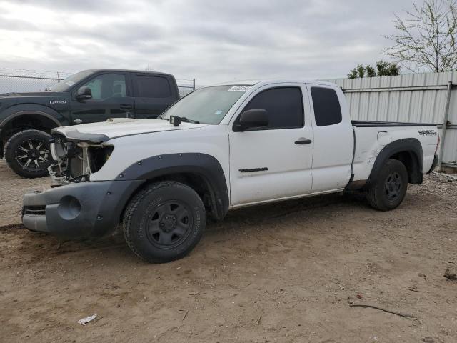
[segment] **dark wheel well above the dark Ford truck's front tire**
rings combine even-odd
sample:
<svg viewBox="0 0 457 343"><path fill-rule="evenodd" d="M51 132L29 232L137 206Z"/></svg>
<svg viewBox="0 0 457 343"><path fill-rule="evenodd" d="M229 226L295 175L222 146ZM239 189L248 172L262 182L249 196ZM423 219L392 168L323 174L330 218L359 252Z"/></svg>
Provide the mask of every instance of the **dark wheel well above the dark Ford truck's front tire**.
<svg viewBox="0 0 457 343"><path fill-rule="evenodd" d="M27 129L36 129L50 134L51 129L54 129L54 127L57 127L56 122L46 116L22 114L11 119L3 126L1 129L1 141L5 144L11 136Z"/></svg>

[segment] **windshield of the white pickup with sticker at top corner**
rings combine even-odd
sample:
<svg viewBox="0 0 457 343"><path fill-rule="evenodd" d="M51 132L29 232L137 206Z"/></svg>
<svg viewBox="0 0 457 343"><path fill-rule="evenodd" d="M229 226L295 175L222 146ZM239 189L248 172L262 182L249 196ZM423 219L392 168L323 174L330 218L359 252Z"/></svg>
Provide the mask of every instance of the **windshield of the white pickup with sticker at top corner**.
<svg viewBox="0 0 457 343"><path fill-rule="evenodd" d="M197 89L184 96L169 109L164 111L159 119L169 119L179 116L191 122L201 124L219 124L231 106L251 86L213 86Z"/></svg>

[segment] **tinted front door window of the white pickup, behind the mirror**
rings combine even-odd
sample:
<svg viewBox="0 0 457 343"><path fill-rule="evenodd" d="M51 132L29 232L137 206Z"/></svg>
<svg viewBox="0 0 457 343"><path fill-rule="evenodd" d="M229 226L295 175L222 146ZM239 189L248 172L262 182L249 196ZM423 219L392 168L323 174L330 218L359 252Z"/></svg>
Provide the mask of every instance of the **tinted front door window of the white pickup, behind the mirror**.
<svg viewBox="0 0 457 343"><path fill-rule="evenodd" d="M253 97L243 111L265 109L270 124L258 130L303 127L303 98L298 87L267 89ZM257 129L256 129L257 130Z"/></svg>

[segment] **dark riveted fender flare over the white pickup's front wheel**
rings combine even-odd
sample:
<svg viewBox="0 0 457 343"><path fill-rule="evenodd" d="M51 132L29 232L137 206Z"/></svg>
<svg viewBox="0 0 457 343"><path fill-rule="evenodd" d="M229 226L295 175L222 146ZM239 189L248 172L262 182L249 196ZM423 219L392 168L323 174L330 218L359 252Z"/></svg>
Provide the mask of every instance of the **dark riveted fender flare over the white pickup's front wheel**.
<svg viewBox="0 0 457 343"><path fill-rule="evenodd" d="M186 152L152 156L131 164L115 180L148 181L184 173L196 174L204 179L211 193L212 215L215 219L223 219L229 211L229 190L221 164L209 154Z"/></svg>

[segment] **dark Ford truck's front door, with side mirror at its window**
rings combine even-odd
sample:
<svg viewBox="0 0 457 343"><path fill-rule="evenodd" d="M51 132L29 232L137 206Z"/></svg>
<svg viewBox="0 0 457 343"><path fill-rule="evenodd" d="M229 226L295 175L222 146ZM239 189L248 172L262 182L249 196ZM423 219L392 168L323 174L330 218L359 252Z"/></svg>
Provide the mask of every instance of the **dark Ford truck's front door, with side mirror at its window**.
<svg viewBox="0 0 457 343"><path fill-rule="evenodd" d="M129 87L129 74L124 72L97 74L79 85L92 91L91 99L77 100L74 89L71 94L71 124L106 121L109 118L133 116L134 98Z"/></svg>

